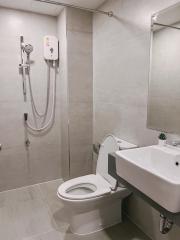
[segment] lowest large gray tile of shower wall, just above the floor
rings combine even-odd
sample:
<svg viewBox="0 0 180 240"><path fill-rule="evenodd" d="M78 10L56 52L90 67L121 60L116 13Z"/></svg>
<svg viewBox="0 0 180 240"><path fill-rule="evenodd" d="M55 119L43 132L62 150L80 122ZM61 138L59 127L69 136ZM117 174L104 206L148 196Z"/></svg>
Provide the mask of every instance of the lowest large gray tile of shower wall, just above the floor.
<svg viewBox="0 0 180 240"><path fill-rule="evenodd" d="M61 176L59 145L32 144L0 153L0 191L57 179Z"/></svg>

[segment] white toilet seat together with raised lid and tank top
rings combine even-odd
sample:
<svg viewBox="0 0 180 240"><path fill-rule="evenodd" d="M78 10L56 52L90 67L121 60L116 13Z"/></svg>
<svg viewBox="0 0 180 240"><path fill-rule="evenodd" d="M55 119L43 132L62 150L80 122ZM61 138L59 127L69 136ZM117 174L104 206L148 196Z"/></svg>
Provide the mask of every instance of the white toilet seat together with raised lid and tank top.
<svg viewBox="0 0 180 240"><path fill-rule="evenodd" d="M126 144L125 144L126 143ZM116 189L117 180L108 172L108 155L120 149L135 147L113 135L108 135L102 142L97 160L96 174L90 174L68 180L60 185L57 195L65 200L88 200L110 194Z"/></svg>

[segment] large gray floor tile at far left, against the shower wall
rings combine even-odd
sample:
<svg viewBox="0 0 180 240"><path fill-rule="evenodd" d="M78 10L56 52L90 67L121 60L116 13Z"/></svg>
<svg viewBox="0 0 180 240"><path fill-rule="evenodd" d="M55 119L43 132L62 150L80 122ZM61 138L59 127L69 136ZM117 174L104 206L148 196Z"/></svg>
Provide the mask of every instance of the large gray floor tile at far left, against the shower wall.
<svg viewBox="0 0 180 240"><path fill-rule="evenodd" d="M14 235L21 239L53 230L48 206L37 185L2 192L0 206L4 214L0 223L0 236L10 234L9 240L14 240Z"/></svg>

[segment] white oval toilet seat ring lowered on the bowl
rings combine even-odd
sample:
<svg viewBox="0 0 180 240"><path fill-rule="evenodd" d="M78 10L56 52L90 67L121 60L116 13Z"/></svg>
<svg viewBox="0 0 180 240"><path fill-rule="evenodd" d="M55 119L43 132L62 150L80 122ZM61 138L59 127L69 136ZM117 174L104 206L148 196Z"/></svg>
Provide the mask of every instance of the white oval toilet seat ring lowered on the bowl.
<svg viewBox="0 0 180 240"><path fill-rule="evenodd" d="M103 196L110 192L111 185L103 177L99 174L90 174L66 181L60 185L57 194L66 199L83 200Z"/></svg>

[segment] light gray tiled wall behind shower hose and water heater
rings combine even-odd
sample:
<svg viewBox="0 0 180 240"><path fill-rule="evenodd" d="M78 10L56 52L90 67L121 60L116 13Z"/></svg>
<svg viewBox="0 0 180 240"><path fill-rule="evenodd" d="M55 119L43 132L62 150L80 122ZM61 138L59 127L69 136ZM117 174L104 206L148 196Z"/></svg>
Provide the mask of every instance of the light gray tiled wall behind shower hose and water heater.
<svg viewBox="0 0 180 240"><path fill-rule="evenodd" d="M60 98L57 79L56 117L54 126L43 136L29 135L25 147L22 78L19 75L19 37L34 46L31 54L32 85L37 107L44 109L46 64L43 59L43 36L57 35L56 18L0 8L0 191L61 177Z"/></svg>

